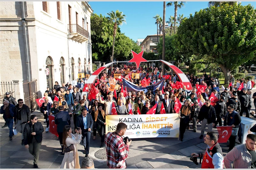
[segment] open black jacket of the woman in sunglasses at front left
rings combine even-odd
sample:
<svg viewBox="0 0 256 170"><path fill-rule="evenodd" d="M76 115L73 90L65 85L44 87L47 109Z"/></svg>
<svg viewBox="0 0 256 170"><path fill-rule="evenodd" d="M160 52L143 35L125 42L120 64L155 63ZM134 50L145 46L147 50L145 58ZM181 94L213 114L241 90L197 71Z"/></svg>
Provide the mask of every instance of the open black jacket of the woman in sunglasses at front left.
<svg viewBox="0 0 256 170"><path fill-rule="evenodd" d="M41 122L36 122L34 125L35 125L34 129L31 122L25 125L25 128L23 130L24 145L30 144L32 142L32 139L33 139L33 136L31 135L32 132L36 132L36 135L34 136L36 138L36 141L38 143L42 142L44 127L41 124Z"/></svg>

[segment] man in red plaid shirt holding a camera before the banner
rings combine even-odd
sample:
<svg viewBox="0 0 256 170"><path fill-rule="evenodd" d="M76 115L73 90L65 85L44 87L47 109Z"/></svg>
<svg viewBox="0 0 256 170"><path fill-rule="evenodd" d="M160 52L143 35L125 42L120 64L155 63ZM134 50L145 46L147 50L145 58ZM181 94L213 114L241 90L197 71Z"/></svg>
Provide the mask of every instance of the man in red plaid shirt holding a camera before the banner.
<svg viewBox="0 0 256 170"><path fill-rule="evenodd" d="M123 135L127 125L123 122L117 124L115 132L108 132L105 137L108 168L126 168L126 158L129 153L129 146L132 140L123 141Z"/></svg>

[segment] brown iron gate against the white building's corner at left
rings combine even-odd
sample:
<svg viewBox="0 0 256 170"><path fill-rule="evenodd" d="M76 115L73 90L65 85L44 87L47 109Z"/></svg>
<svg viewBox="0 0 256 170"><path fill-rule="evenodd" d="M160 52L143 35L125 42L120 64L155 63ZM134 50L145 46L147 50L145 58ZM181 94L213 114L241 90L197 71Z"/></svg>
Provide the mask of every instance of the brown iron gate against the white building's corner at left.
<svg viewBox="0 0 256 170"><path fill-rule="evenodd" d="M25 80L23 83L24 104L26 104L29 107L29 109L31 110L31 113L35 111L38 107L36 103L36 99L37 99L36 81L37 80L35 79L30 82Z"/></svg>

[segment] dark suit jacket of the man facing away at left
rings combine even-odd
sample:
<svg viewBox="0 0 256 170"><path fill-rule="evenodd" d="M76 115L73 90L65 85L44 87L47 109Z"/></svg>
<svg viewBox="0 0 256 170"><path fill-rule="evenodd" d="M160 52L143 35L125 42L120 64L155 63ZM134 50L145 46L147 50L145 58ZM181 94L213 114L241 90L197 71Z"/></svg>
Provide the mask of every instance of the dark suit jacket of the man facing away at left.
<svg viewBox="0 0 256 170"><path fill-rule="evenodd" d="M55 115L55 124L57 124L57 132L63 132L63 128L68 124L68 121L70 121L70 116L68 115L68 112L60 111Z"/></svg>

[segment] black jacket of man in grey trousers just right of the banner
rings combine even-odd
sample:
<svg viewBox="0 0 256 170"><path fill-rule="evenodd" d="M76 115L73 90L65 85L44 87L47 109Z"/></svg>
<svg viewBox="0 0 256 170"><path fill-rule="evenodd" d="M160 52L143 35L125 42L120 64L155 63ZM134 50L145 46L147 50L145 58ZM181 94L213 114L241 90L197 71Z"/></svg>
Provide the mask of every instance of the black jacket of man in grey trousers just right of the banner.
<svg viewBox="0 0 256 170"><path fill-rule="evenodd" d="M199 111L198 119L207 119L207 123L214 123L216 121L216 112L214 107L212 107L212 105L209 107L203 105Z"/></svg>

